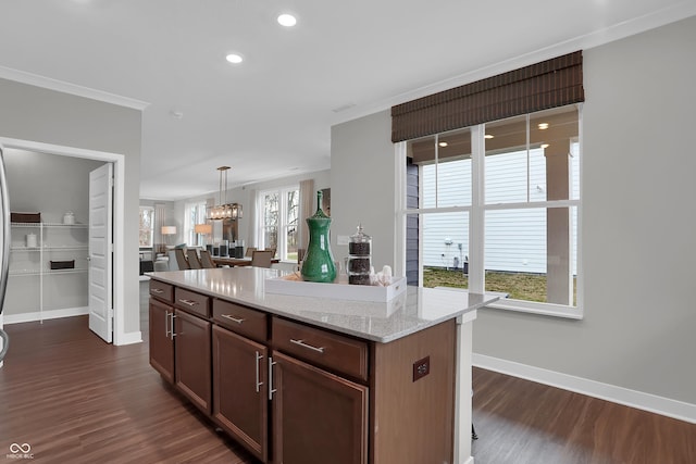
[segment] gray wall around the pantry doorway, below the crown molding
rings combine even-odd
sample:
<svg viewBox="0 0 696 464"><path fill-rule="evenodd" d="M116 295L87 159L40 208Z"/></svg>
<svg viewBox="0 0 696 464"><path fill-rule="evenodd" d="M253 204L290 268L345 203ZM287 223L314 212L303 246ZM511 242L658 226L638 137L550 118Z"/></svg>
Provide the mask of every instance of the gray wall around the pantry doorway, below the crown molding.
<svg viewBox="0 0 696 464"><path fill-rule="evenodd" d="M124 330L140 330L138 191L142 116L139 110L0 79L0 137L121 153L125 156Z"/></svg>

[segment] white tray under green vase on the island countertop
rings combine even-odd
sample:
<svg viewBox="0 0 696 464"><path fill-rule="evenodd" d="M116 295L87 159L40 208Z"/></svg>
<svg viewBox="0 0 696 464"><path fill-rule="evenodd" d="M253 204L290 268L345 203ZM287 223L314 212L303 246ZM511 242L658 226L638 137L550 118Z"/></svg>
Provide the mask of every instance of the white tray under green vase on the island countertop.
<svg viewBox="0 0 696 464"><path fill-rule="evenodd" d="M393 277L391 284L387 287L348 285L348 283L319 284L315 281L290 280L288 277L281 276L265 279L265 291L269 293L331 298L334 300L387 302L406 290L406 277Z"/></svg>

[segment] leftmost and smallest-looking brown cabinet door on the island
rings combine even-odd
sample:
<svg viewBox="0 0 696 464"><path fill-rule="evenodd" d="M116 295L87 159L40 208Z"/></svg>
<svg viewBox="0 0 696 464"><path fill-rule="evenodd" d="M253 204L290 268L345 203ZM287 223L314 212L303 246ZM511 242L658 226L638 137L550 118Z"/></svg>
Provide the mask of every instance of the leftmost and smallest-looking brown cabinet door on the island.
<svg viewBox="0 0 696 464"><path fill-rule="evenodd" d="M169 383L174 383L173 313L174 308L150 298L150 365Z"/></svg>

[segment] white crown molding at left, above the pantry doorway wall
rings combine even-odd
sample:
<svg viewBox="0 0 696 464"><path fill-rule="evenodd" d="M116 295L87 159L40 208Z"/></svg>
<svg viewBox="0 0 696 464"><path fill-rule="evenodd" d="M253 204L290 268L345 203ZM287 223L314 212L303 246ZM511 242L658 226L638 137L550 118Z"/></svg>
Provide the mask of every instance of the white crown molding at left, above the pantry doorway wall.
<svg viewBox="0 0 696 464"><path fill-rule="evenodd" d="M102 101L119 106L130 108L133 110L142 111L150 103L134 98L122 97L115 93L109 93L101 90L83 87L63 80L40 76L38 74L26 73L24 71L13 70L11 67L0 66L0 78L14 80L21 84L27 84L49 90L55 90L63 93L70 93L77 97L88 98L90 100Z"/></svg>

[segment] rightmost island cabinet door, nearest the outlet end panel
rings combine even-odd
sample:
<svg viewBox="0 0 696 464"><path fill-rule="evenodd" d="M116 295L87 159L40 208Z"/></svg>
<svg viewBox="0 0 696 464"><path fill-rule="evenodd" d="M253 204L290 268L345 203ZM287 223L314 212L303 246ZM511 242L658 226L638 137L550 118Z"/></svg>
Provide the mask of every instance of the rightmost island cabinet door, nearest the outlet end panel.
<svg viewBox="0 0 696 464"><path fill-rule="evenodd" d="M368 461L368 387L273 352L273 462Z"/></svg>

